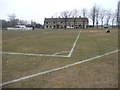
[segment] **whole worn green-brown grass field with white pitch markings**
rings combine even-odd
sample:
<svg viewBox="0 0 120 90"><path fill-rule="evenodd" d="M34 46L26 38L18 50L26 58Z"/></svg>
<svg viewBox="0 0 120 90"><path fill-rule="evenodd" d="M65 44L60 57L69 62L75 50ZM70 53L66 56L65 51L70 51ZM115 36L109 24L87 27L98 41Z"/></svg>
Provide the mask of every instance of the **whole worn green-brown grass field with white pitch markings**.
<svg viewBox="0 0 120 90"><path fill-rule="evenodd" d="M57 55L68 56L72 49L70 57L56 57ZM110 33L105 33L105 30L5 30L2 31L2 52L43 54L43 56L3 54L3 83L115 50L118 50L118 30L111 30ZM54 56L44 56L46 54ZM118 54L114 53L3 86L3 88L8 87L117 88Z"/></svg>

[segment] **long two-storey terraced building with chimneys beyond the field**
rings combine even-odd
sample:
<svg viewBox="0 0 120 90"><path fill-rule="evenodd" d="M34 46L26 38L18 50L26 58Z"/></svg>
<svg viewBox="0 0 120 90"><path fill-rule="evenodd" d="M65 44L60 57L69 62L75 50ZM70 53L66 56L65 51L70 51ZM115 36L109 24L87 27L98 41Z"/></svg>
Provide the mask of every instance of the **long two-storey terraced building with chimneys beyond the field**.
<svg viewBox="0 0 120 90"><path fill-rule="evenodd" d="M88 18L45 18L45 29L87 28Z"/></svg>

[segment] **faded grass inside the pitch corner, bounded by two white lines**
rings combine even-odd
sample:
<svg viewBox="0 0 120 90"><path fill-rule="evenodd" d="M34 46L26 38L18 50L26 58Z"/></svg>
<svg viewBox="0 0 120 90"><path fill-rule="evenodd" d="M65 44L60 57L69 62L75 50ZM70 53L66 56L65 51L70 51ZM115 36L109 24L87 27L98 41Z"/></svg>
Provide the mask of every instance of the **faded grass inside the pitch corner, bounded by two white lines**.
<svg viewBox="0 0 120 90"><path fill-rule="evenodd" d="M3 32L3 51L43 54L69 51L77 33L78 31L71 30L6 31ZM12 40L13 37L16 40ZM23 38L21 39L21 37Z"/></svg>

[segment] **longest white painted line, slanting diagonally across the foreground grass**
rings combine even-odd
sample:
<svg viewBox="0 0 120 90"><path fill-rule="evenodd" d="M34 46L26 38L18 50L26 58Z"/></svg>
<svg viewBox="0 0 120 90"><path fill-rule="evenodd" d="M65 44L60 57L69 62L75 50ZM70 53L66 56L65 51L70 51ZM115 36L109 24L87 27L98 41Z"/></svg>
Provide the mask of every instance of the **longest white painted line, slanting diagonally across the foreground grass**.
<svg viewBox="0 0 120 90"><path fill-rule="evenodd" d="M43 74L47 74L47 73L50 73L50 72L58 71L58 70L61 70L61 69L65 69L65 68L68 68L68 67L71 67L71 66L75 66L75 65L87 62L87 61L91 61L91 60L94 60L94 59L97 59L97 58L100 58L100 57L103 57L103 56L107 56L107 55L116 53L118 51L120 51L120 50L115 50L115 51L112 51L112 52L105 53L103 55L98 55L96 57L92 57L92 58L85 59L85 60L82 60L82 61L79 61L79 62L68 64L68 65L65 65L65 66L62 66L62 67L59 67L59 68L55 68L55 69L51 69L51 70L48 70L48 71L40 72L40 73L37 73L37 74L33 74L33 75L29 75L29 76L18 78L18 79L14 79L14 80L11 80L11 81L7 81L7 82L4 82L4 83L0 84L0 86L4 86L4 85L15 83L15 82L18 82L18 81L21 81L21 80L25 80L25 79L36 77L36 76L39 76L39 75L43 75ZM97 60L99 60L99 59L97 59Z"/></svg>

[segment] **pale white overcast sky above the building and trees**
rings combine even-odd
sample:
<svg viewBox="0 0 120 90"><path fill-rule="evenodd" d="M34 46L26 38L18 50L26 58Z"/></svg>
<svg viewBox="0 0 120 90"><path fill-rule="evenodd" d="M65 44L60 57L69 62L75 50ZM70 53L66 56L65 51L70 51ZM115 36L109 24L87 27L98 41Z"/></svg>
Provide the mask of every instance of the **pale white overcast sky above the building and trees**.
<svg viewBox="0 0 120 90"><path fill-rule="evenodd" d="M0 0L0 19L16 18L43 24L45 17L56 17L61 11L82 8L90 9L94 4L101 8L116 10L119 0Z"/></svg>

